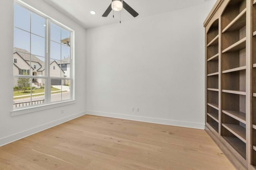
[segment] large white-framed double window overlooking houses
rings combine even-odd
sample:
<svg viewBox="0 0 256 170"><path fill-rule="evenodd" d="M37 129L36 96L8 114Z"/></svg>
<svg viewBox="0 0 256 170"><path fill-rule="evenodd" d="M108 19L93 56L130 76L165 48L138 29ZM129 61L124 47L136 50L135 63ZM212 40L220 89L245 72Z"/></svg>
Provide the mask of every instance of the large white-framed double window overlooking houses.
<svg viewBox="0 0 256 170"><path fill-rule="evenodd" d="M71 41L74 31L36 11L20 0L14 2L14 110L74 100ZM69 56L69 72L64 72L61 65L66 56Z"/></svg>

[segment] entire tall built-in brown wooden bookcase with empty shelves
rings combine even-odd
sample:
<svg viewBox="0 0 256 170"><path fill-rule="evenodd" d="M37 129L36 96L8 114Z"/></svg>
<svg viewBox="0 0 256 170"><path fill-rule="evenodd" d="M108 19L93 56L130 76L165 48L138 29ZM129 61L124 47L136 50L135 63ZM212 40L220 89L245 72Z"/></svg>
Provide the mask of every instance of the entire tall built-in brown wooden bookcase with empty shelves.
<svg viewBox="0 0 256 170"><path fill-rule="evenodd" d="M256 170L256 0L217 0L204 27L206 131L237 169Z"/></svg>

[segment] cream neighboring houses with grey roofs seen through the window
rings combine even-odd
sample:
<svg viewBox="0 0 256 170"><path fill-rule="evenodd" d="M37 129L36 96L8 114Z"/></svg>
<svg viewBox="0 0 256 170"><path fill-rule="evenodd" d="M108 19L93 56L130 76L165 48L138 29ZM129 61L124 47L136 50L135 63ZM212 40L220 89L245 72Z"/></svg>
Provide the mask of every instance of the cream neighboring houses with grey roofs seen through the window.
<svg viewBox="0 0 256 170"><path fill-rule="evenodd" d="M31 65L30 65L31 57ZM69 59L69 57L67 58ZM65 60L65 59L64 59ZM66 63L66 68L70 64ZM51 77L66 77L64 70L60 67L56 61L51 61L50 63L50 76ZM31 70L31 71L30 71ZM67 70L67 69L66 69ZM24 49L14 48L13 53L13 72L14 75L34 75L34 76L44 76L45 68L44 61L40 60L34 55L30 55L28 51ZM32 72L32 73L31 73ZM68 69L69 74L69 69ZM18 78L14 78L13 86L17 86ZM62 85L65 85L66 81L62 81ZM32 86L41 86L44 85L43 79L33 78ZM51 85L61 85L61 80L53 79Z"/></svg>

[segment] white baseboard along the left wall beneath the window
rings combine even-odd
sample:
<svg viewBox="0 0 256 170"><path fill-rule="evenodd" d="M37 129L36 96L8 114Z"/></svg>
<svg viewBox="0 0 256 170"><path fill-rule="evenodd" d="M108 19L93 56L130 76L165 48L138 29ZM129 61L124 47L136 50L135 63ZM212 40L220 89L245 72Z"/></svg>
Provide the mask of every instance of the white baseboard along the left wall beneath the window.
<svg viewBox="0 0 256 170"><path fill-rule="evenodd" d="M28 129L26 131L22 131L22 132L16 133L14 135L10 135L8 137L1 138L0 139L0 147L3 146L3 145L6 145L8 143L17 141L19 139L22 139L24 137L33 135L33 134L38 133L40 131L43 131L45 129L49 129L51 127L54 127L56 125L59 125L61 123L66 122L66 121L70 121L72 119L75 119L75 118L80 117L80 116L85 115L85 114L86 114L86 112L83 111L83 112L80 112L80 113L76 113L76 114L70 115L68 117L64 117L64 118L61 118L61 119L58 119L58 120L46 123L44 125L40 125L40 126L31 128L31 129Z"/></svg>

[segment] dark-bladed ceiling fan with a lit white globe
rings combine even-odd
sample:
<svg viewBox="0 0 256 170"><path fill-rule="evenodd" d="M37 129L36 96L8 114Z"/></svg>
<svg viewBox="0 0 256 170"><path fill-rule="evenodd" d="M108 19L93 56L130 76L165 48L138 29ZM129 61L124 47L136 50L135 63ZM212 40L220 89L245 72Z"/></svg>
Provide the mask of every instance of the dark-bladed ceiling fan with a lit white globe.
<svg viewBox="0 0 256 170"><path fill-rule="evenodd" d="M108 6L107 10L104 12L104 14L102 16L107 17L108 14L110 14L110 12L112 10L120 11L123 8L127 12L129 12L133 17L136 17L139 15L134 9L132 9L132 7L130 7L128 4L126 4L126 2L124 2L124 0L112 0L111 4Z"/></svg>

